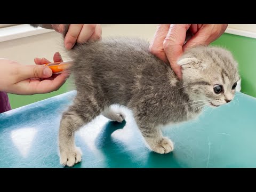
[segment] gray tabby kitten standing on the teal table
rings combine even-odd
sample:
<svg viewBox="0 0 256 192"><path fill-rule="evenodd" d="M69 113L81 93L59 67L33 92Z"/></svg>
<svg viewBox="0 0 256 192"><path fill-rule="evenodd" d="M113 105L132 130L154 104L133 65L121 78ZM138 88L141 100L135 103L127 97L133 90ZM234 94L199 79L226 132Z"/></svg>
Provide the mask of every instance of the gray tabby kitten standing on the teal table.
<svg viewBox="0 0 256 192"><path fill-rule="evenodd" d="M99 115L124 120L123 113L110 109L113 104L131 109L148 147L166 154L173 150L173 143L163 137L161 127L188 121L204 106L218 107L234 98L240 77L229 51L211 46L188 50L178 61L183 74L179 81L170 65L148 48L147 41L122 37L76 44L68 51L74 61L70 71L77 95L60 122L62 165L73 166L82 160L74 139L80 127Z"/></svg>

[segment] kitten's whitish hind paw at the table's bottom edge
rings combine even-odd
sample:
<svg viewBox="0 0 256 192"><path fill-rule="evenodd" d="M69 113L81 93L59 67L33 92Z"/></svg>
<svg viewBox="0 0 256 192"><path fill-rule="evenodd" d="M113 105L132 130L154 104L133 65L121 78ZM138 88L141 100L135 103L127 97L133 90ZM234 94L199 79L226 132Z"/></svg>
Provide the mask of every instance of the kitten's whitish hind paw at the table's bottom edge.
<svg viewBox="0 0 256 192"><path fill-rule="evenodd" d="M82 161L81 149L76 147L74 150L65 150L60 153L60 164L69 167L74 166L76 163Z"/></svg>

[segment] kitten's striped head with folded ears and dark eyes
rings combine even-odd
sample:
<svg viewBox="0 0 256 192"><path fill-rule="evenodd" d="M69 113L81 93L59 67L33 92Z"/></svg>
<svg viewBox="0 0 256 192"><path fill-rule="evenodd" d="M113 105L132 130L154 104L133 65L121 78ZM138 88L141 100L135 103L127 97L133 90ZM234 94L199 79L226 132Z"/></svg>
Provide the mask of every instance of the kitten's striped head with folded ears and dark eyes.
<svg viewBox="0 0 256 192"><path fill-rule="evenodd" d="M220 47L198 46L179 59L185 92L193 101L213 107L233 100L240 77L233 55Z"/></svg>

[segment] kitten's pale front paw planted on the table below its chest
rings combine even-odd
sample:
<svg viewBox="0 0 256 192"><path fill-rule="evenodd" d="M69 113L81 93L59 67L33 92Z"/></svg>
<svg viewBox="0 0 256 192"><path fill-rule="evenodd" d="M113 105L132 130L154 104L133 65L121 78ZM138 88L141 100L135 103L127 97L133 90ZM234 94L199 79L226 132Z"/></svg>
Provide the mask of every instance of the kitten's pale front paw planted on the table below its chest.
<svg viewBox="0 0 256 192"><path fill-rule="evenodd" d="M166 137L163 137L161 140L156 140L154 138L145 138L145 140L149 147L159 154L167 154L174 149L173 142Z"/></svg>

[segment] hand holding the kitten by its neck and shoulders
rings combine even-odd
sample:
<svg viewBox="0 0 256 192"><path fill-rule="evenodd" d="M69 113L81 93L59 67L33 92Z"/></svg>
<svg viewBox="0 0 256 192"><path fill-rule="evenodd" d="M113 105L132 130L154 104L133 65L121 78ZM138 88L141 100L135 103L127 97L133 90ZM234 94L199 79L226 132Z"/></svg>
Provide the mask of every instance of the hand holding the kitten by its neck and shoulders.
<svg viewBox="0 0 256 192"><path fill-rule="evenodd" d="M184 51L197 45L209 45L219 38L228 24L163 24L158 25L149 51L166 63L179 79L181 67L177 64ZM187 35L191 38L186 41Z"/></svg>

